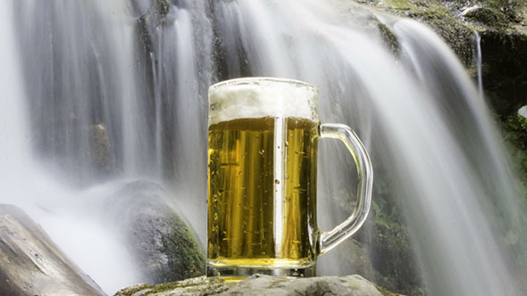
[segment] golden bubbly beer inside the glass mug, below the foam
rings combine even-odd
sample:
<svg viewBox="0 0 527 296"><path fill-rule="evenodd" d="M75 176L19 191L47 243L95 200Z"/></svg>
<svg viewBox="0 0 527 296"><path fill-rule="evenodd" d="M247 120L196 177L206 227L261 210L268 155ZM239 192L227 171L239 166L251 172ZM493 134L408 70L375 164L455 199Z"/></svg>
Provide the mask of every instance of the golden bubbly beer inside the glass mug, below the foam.
<svg viewBox="0 0 527 296"><path fill-rule="evenodd" d="M265 117L209 127L210 263L314 262L317 126L309 119Z"/></svg>

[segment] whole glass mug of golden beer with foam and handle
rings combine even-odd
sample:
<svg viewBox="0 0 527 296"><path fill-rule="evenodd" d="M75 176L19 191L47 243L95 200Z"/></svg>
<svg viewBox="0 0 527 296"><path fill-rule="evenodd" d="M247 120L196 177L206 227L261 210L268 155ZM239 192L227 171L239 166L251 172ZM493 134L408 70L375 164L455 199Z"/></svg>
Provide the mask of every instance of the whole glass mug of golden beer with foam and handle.
<svg viewBox="0 0 527 296"><path fill-rule="evenodd" d="M318 119L318 90L282 78L238 78L209 88L207 275L314 276L316 258L363 225L372 164L356 134ZM356 161L352 215L329 232L316 222L319 138Z"/></svg>

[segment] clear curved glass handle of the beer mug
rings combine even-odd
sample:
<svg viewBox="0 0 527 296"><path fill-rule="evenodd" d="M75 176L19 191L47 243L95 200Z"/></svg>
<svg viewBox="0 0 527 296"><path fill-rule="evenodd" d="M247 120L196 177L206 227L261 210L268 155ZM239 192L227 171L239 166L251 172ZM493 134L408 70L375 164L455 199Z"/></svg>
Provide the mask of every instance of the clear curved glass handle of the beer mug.
<svg viewBox="0 0 527 296"><path fill-rule="evenodd" d="M334 138L344 142L356 162L358 175L357 206L344 222L328 232L321 232L319 237L319 255L330 251L342 243L363 226L370 211L372 201L373 169L372 162L364 145L354 131L347 125L337 123L321 123L319 125L321 138Z"/></svg>

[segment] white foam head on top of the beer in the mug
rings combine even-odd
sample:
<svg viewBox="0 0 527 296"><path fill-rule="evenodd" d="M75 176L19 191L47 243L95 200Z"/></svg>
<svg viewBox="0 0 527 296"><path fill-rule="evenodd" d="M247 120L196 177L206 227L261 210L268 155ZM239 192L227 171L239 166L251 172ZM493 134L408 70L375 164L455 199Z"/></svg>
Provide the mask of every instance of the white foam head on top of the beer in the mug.
<svg viewBox="0 0 527 296"><path fill-rule="evenodd" d="M281 78L238 78L209 87L209 126L232 119L296 117L318 121L318 90Z"/></svg>

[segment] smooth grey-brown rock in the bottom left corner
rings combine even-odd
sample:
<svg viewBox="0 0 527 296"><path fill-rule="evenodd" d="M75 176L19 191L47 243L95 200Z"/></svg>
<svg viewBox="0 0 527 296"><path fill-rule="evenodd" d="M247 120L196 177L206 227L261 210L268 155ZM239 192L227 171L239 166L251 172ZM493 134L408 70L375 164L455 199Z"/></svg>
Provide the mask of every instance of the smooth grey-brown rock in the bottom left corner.
<svg viewBox="0 0 527 296"><path fill-rule="evenodd" d="M22 210L0 205L0 295L105 295Z"/></svg>

